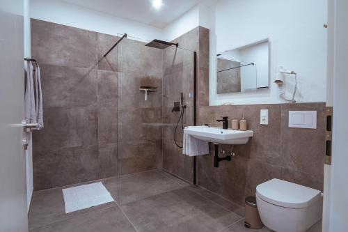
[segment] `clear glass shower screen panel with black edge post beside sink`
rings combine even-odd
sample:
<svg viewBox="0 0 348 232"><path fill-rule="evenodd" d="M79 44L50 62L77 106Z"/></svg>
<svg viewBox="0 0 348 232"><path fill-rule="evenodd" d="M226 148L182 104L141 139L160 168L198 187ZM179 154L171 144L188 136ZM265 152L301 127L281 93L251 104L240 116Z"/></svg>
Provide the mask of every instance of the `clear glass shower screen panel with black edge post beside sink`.
<svg viewBox="0 0 348 232"><path fill-rule="evenodd" d="M172 190L175 176L193 180L180 146L182 125L193 125L194 52L147 43L128 36L117 46L120 205Z"/></svg>

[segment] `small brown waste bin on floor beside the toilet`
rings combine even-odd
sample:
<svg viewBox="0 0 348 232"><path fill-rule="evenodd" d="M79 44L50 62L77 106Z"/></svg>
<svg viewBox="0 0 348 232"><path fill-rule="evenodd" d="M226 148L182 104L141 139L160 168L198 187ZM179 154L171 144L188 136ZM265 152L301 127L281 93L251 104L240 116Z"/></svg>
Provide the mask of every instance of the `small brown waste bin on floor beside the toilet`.
<svg viewBox="0 0 348 232"><path fill-rule="evenodd" d="M245 199L244 226L251 229L261 229L263 227L255 196L248 196Z"/></svg>

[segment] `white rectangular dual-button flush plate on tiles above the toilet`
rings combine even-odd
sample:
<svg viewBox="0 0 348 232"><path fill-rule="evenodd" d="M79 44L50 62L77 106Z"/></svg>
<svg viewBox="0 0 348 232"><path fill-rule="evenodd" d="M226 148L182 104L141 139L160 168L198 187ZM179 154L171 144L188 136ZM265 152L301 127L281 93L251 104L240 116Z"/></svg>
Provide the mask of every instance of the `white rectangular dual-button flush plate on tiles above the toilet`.
<svg viewBox="0 0 348 232"><path fill-rule="evenodd" d="M317 111L289 111L289 127L317 129Z"/></svg>

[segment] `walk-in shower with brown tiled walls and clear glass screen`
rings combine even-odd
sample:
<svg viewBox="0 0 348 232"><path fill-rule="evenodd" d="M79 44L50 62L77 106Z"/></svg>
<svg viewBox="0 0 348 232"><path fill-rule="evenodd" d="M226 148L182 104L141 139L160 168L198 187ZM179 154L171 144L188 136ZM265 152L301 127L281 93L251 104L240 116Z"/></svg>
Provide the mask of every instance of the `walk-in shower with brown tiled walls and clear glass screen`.
<svg viewBox="0 0 348 232"><path fill-rule="evenodd" d="M49 121L33 134L35 191L102 180L122 205L180 187L173 178L194 183L195 158L175 145L183 136L175 127L196 123L196 52L180 40L149 43L40 20L32 29ZM58 34L72 39L61 44Z"/></svg>

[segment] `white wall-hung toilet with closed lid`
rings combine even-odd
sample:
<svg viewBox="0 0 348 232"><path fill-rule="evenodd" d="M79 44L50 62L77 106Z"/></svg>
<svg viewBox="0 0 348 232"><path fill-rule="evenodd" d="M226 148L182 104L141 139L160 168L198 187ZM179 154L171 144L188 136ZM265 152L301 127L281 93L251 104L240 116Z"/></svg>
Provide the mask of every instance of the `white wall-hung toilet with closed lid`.
<svg viewBox="0 0 348 232"><path fill-rule="evenodd" d="M310 187L273 179L256 187L261 221L278 232L303 232L322 218L322 193Z"/></svg>

